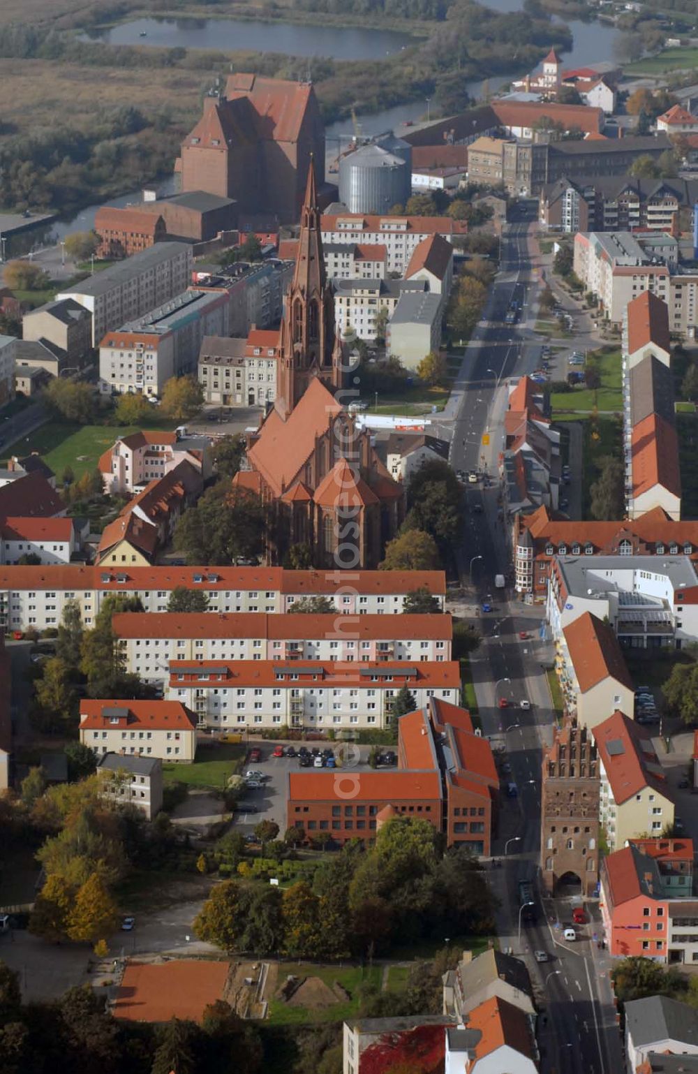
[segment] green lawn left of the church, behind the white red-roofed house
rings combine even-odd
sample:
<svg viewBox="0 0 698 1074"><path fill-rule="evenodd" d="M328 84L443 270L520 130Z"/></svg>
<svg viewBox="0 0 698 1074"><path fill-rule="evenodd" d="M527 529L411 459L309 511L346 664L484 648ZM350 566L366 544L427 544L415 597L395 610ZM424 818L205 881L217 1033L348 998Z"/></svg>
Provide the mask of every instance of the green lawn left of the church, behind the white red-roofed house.
<svg viewBox="0 0 698 1074"><path fill-rule="evenodd" d="M148 421L148 429L172 430L175 425L175 421L162 419ZM49 421L5 450L8 456L37 451L55 474L60 476L66 466L70 465L78 478L86 470L97 467L100 455L112 447L117 436L137 432L136 425L76 425Z"/></svg>

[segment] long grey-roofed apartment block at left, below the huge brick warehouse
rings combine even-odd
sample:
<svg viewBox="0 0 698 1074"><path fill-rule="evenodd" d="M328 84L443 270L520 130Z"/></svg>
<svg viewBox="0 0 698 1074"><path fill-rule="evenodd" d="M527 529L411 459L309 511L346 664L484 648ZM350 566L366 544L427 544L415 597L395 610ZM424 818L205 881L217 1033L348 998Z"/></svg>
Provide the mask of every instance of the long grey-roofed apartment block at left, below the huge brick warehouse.
<svg viewBox="0 0 698 1074"><path fill-rule="evenodd" d="M190 243L156 243L88 276L57 299L74 299L92 315L92 346L119 324L143 317L186 291L193 263Z"/></svg>

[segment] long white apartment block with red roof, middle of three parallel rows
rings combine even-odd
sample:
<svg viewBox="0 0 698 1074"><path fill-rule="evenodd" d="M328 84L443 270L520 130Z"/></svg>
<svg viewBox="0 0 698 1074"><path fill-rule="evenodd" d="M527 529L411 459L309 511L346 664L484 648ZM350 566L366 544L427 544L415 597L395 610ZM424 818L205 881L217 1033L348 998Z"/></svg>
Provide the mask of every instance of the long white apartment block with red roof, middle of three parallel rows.
<svg viewBox="0 0 698 1074"><path fill-rule="evenodd" d="M125 612L113 619L126 666L141 679L165 680L175 661L451 659L450 615Z"/></svg>

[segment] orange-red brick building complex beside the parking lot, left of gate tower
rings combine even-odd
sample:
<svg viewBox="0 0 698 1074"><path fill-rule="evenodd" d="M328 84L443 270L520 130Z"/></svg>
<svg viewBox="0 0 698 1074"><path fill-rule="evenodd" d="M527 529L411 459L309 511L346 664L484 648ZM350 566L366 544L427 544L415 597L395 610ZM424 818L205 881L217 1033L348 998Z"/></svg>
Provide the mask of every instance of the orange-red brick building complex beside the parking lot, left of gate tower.
<svg viewBox="0 0 698 1074"><path fill-rule="evenodd" d="M490 743L470 714L430 698L397 723L397 768L289 772L287 826L329 832L337 843L374 839L394 816L422 817L448 846L489 856L499 780Z"/></svg>

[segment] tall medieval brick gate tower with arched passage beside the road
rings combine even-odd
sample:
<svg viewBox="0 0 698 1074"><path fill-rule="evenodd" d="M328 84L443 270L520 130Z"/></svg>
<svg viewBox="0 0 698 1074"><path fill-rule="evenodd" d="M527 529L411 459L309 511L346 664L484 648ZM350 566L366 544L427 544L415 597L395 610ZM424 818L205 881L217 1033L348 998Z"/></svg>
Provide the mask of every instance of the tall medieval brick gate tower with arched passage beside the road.
<svg viewBox="0 0 698 1074"><path fill-rule="evenodd" d="M599 777L596 745L586 727L567 723L543 752L540 868L544 887L581 886L596 894Z"/></svg>

